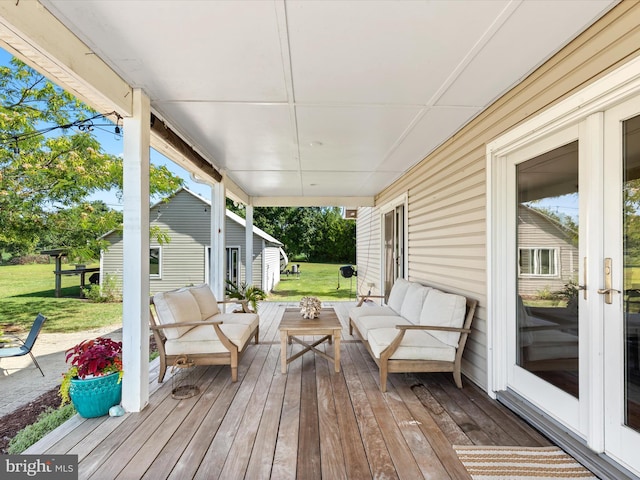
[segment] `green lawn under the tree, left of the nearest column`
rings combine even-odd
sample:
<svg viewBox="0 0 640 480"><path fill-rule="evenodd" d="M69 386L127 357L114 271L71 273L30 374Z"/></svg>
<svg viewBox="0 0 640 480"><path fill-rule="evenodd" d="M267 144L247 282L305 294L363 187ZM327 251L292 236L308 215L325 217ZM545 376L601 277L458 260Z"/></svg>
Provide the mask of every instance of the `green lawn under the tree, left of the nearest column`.
<svg viewBox="0 0 640 480"><path fill-rule="evenodd" d="M122 322L122 304L80 299L78 276L62 276L62 297L55 298L54 269L53 263L0 266L0 325L5 331L27 332L38 313L47 317L43 331L48 333Z"/></svg>

